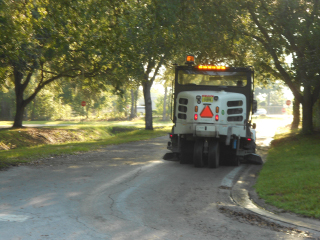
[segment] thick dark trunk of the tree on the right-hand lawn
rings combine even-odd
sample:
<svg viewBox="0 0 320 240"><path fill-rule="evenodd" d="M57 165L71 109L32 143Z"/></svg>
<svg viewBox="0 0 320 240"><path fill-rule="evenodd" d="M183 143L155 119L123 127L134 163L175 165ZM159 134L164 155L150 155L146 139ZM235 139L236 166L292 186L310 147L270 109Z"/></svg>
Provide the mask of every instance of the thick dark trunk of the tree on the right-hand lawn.
<svg viewBox="0 0 320 240"><path fill-rule="evenodd" d="M313 132L312 110L313 101L311 87L304 86L303 106L302 106L302 133L310 134Z"/></svg>

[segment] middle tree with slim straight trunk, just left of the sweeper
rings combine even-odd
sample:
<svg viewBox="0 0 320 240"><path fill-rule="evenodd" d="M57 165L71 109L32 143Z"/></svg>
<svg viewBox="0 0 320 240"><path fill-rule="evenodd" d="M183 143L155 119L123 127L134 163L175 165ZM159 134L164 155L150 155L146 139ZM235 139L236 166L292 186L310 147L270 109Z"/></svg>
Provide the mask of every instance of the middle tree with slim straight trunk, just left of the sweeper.
<svg viewBox="0 0 320 240"><path fill-rule="evenodd" d="M145 128L153 129L150 89L162 66L173 63L192 46L198 13L198 1L194 0L140 0L128 1L130 11L122 18L126 28L126 42L131 56L130 77L143 87L145 100ZM127 63L128 64L128 63Z"/></svg>

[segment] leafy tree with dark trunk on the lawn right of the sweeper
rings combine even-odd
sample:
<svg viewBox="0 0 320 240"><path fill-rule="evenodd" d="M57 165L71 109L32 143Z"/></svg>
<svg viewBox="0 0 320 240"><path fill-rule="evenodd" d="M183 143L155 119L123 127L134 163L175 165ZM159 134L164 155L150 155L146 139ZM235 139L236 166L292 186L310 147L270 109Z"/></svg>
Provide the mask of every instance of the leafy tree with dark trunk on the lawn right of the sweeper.
<svg viewBox="0 0 320 240"><path fill-rule="evenodd" d="M269 55L266 67L302 104L302 131L312 132L312 109L320 94L319 1L243 1L238 7L237 31ZM288 55L292 66L286 64Z"/></svg>

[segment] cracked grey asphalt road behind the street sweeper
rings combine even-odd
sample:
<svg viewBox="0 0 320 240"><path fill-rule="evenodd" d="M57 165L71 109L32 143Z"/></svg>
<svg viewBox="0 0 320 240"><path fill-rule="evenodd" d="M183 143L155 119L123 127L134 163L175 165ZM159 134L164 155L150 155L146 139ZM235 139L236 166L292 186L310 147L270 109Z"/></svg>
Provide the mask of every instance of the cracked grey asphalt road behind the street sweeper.
<svg viewBox="0 0 320 240"><path fill-rule="evenodd" d="M251 221L232 201L225 183L232 186L249 166L164 161L166 142L108 146L0 172L0 239L307 237Z"/></svg>

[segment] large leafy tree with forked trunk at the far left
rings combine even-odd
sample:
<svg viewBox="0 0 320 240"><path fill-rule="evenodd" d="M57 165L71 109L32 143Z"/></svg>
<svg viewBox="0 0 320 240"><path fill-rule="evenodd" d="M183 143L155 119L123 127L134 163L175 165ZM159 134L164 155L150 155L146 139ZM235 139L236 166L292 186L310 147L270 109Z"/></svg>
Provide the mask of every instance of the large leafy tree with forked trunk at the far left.
<svg viewBox="0 0 320 240"><path fill-rule="evenodd" d="M113 71L112 41L116 41L114 32L118 32L114 19L121 4L122 1L108 1L101 9L98 1L0 2L0 73L10 72L15 86L13 127L22 127L25 107L48 84ZM110 10L108 17L106 8ZM37 84L25 96L32 78Z"/></svg>

